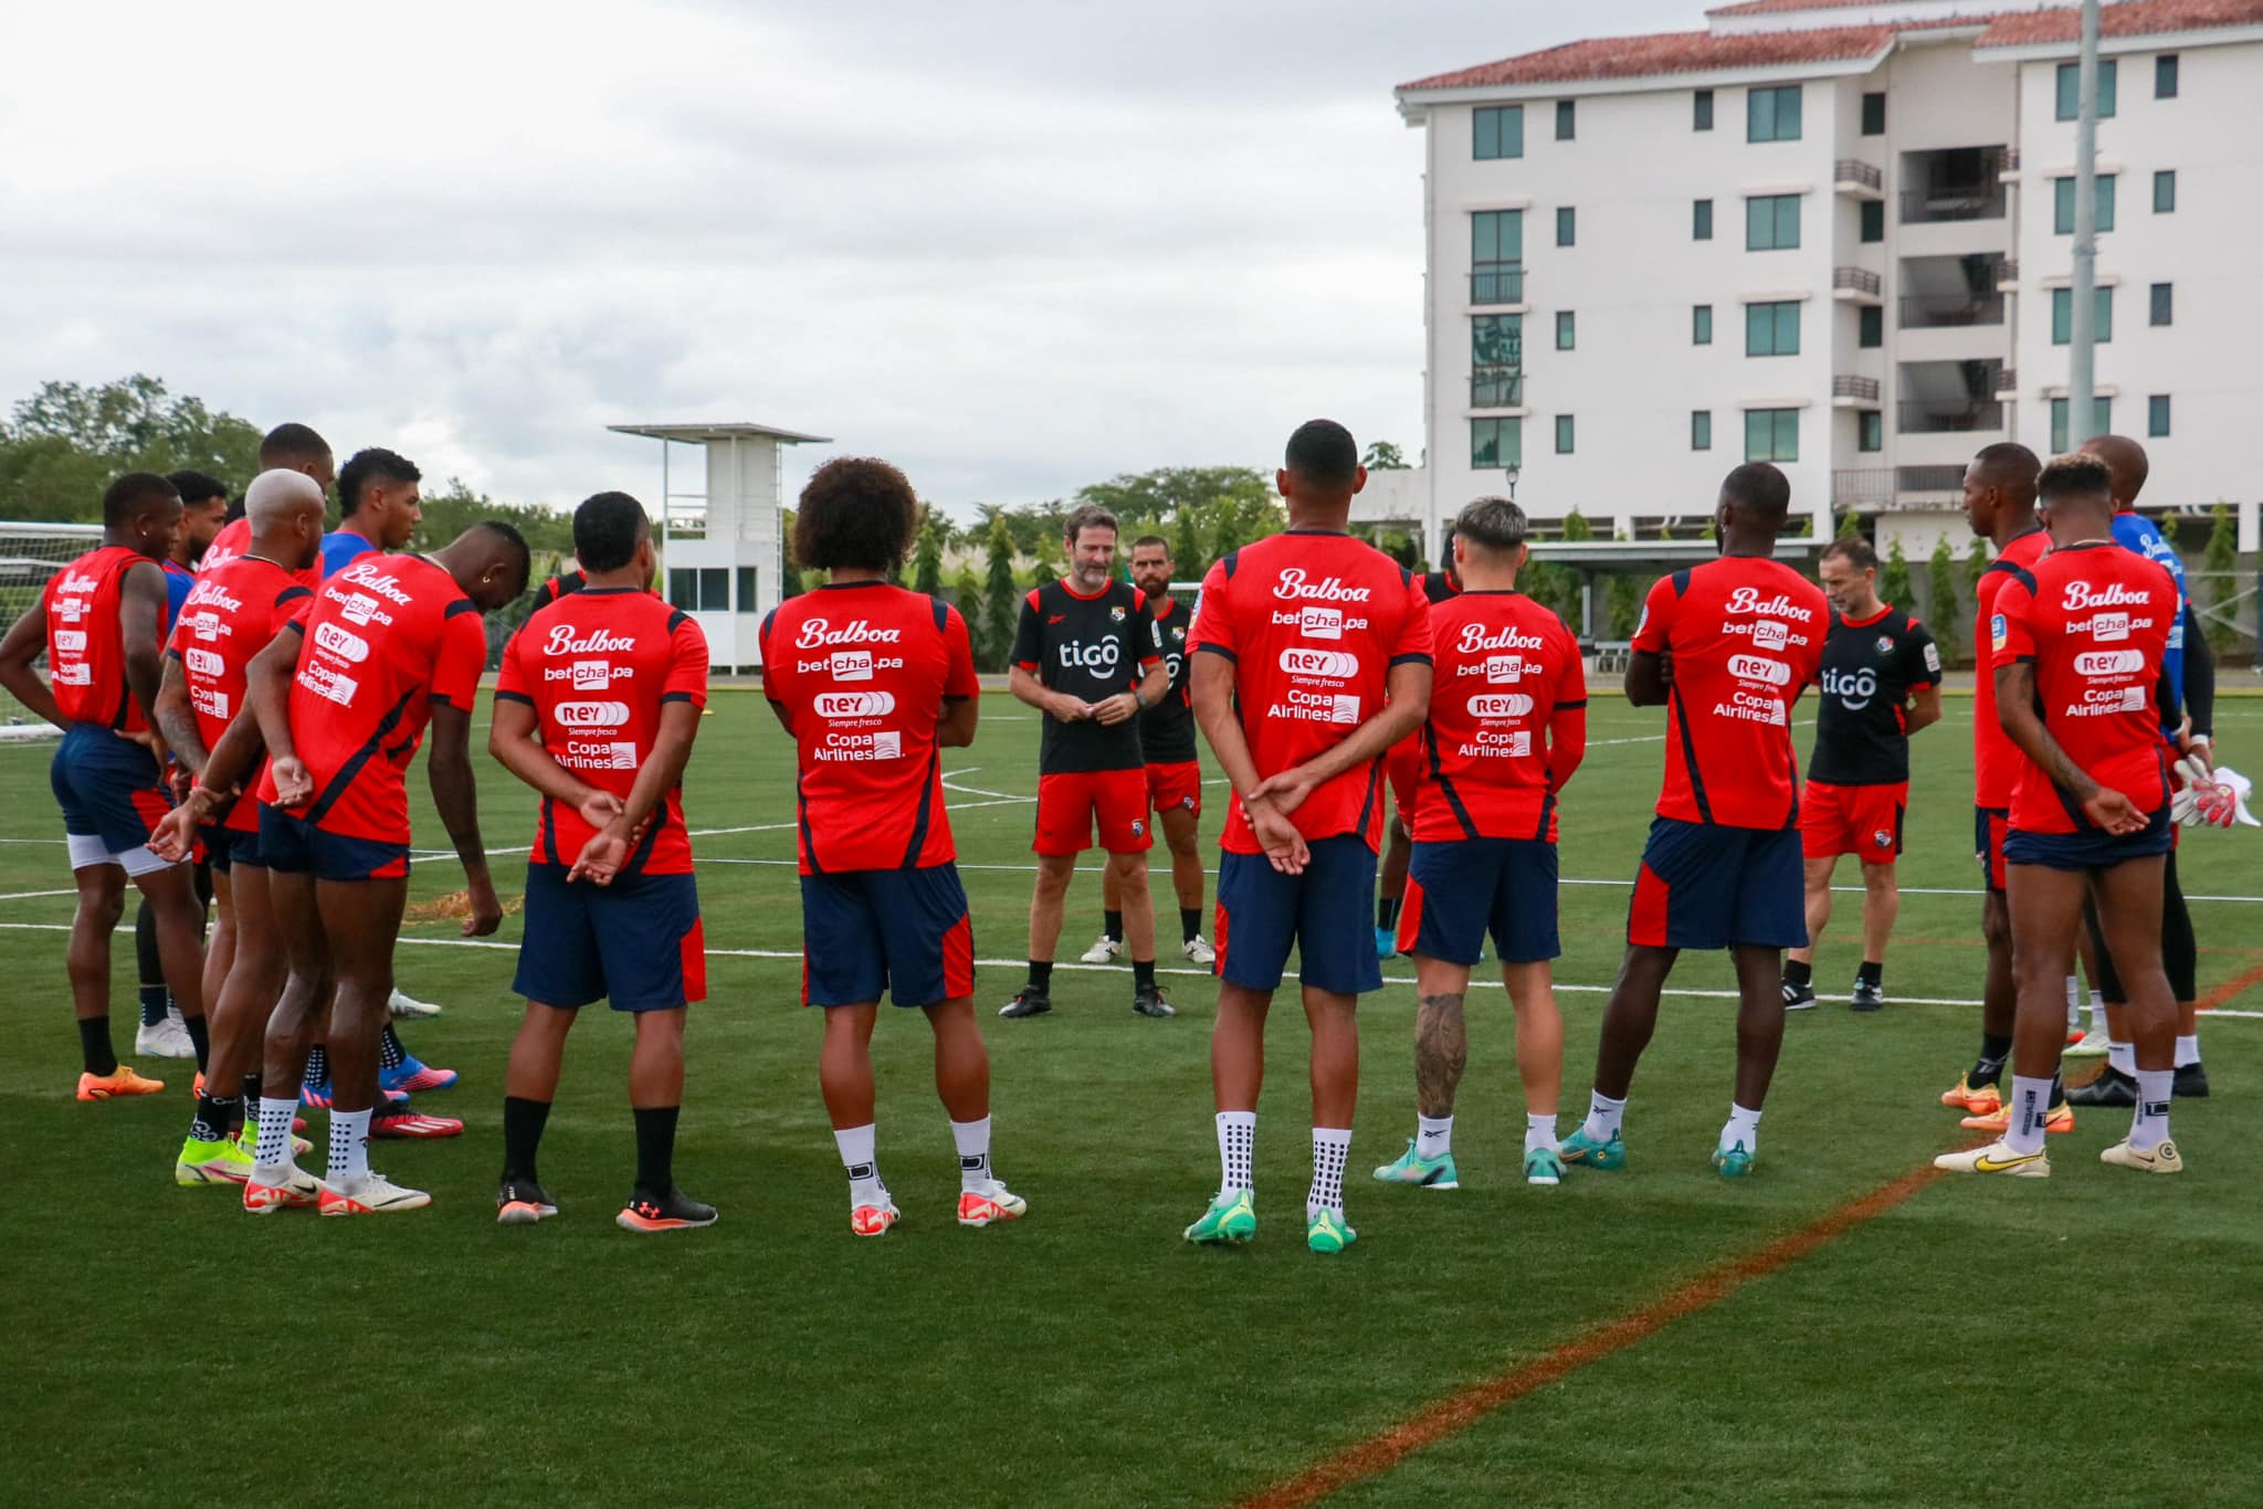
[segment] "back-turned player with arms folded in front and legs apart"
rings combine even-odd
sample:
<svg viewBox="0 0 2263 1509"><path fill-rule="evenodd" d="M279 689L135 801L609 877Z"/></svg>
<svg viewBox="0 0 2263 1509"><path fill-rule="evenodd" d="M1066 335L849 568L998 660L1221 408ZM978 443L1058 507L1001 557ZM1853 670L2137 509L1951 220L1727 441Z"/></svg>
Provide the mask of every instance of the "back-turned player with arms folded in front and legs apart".
<svg viewBox="0 0 2263 1509"><path fill-rule="evenodd" d="M1767 462L1731 471L1713 511L1720 559L1661 577L1643 602L1627 699L1666 704L1666 787L1602 1014L1595 1093L1564 1163L1625 1167L1627 1088L1684 948L1727 948L1736 964L1736 1100L1713 1167L1743 1179L1761 1149L1783 1047L1783 950L1808 941L1790 715L1822 672L1831 618L1822 590L1772 559L1790 500Z"/></svg>

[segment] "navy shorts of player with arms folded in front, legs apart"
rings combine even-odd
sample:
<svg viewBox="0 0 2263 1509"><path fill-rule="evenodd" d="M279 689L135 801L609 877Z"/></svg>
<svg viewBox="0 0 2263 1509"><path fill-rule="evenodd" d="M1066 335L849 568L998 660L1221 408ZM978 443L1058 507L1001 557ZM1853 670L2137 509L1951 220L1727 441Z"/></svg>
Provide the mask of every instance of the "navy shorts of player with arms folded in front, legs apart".
<svg viewBox="0 0 2263 1509"><path fill-rule="evenodd" d="M1808 946L1799 828L1722 828L1659 817L1627 907L1638 948Z"/></svg>

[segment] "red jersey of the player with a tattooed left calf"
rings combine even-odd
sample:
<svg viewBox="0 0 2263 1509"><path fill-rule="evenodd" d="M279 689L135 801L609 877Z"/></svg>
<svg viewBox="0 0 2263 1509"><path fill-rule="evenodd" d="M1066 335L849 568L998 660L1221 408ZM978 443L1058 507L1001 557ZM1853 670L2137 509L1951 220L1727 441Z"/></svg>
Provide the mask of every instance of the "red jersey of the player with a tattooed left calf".
<svg viewBox="0 0 2263 1509"><path fill-rule="evenodd" d="M1516 590L1430 609L1430 722L1414 842L1557 837L1586 753L1586 667L1564 620Z"/></svg>

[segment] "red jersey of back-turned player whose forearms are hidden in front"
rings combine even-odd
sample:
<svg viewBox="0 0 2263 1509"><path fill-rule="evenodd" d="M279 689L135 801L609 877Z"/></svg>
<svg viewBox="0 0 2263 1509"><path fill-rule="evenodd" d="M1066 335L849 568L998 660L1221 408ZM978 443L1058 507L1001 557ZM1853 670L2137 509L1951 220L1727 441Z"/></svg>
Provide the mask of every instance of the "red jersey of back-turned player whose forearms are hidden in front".
<svg viewBox="0 0 2263 1509"><path fill-rule="evenodd" d="M1634 649L1672 656L1659 817L1792 828L1792 704L1822 670L1831 604L1781 561L1720 557L1659 577Z"/></svg>

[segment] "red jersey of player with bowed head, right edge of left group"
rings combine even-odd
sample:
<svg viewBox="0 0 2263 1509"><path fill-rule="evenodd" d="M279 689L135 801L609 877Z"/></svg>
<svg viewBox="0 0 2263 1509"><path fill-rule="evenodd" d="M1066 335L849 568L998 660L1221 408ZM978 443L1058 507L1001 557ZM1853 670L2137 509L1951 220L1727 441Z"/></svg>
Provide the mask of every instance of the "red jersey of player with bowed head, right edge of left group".
<svg viewBox="0 0 2263 1509"><path fill-rule="evenodd" d="M468 713L480 695L480 604L421 554L371 554L303 597L292 624L306 633L290 683L292 744L315 778L306 817L324 833L407 844L407 767L432 704ZM258 799L276 801L272 769Z"/></svg>

